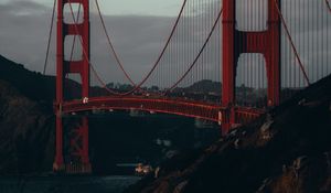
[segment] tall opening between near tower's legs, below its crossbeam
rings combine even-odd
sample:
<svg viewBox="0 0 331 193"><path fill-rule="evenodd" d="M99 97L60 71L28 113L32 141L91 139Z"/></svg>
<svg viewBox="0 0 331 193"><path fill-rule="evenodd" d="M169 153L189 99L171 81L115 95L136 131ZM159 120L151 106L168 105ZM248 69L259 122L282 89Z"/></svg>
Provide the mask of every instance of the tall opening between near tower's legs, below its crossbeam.
<svg viewBox="0 0 331 193"><path fill-rule="evenodd" d="M267 106L267 68L263 54L241 54L236 73L236 105Z"/></svg>

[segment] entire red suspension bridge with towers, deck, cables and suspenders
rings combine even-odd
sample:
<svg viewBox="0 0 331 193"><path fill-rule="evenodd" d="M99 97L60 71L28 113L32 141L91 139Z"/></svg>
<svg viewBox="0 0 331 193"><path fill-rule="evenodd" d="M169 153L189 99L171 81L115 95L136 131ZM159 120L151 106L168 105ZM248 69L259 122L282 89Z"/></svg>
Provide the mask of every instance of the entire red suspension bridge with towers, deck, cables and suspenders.
<svg viewBox="0 0 331 193"><path fill-rule="evenodd" d="M90 19L90 4L98 21ZM54 1L44 65L45 74L56 25L54 171L92 172L88 114L93 110L192 117L218 124L226 135L331 72L328 0L182 0L163 46L140 78L134 78L134 64L124 63L102 9L98 0ZM92 22L99 23L108 45L109 72L121 76L117 83L126 88L109 84L116 79L102 77L92 60ZM75 75L81 95L66 98L66 79ZM218 86L193 89L204 81ZM102 92L93 93L92 87ZM72 115L79 115L79 120L65 128L64 119ZM64 138L70 142L65 144Z"/></svg>

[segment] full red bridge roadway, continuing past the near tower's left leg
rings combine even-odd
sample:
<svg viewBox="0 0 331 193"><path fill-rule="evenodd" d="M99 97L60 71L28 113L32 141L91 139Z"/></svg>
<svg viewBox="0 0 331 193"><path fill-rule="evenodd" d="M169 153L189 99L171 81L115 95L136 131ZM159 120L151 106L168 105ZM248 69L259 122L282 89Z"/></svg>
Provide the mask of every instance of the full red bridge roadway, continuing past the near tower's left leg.
<svg viewBox="0 0 331 193"><path fill-rule="evenodd" d="M90 110L141 110L161 114L171 114L191 118L200 118L218 122L220 125L229 114L228 109L220 104L209 104L179 98L153 98L153 97L93 97L83 103L82 99L65 101L62 104L63 114L90 111ZM232 112L235 114L237 124L245 124L259 117L265 112L264 109L235 107Z"/></svg>

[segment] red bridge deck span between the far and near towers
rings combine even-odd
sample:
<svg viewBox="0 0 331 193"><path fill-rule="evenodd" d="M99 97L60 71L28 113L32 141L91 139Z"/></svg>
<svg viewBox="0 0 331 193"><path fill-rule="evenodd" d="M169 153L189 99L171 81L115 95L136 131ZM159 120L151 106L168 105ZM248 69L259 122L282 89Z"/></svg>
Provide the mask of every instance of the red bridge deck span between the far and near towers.
<svg viewBox="0 0 331 193"><path fill-rule="evenodd" d="M90 98L88 104L82 104L81 100L73 100L63 105L63 112L98 109L137 109L218 121L218 111L222 111L223 108L217 105L189 100L139 97L99 97Z"/></svg>

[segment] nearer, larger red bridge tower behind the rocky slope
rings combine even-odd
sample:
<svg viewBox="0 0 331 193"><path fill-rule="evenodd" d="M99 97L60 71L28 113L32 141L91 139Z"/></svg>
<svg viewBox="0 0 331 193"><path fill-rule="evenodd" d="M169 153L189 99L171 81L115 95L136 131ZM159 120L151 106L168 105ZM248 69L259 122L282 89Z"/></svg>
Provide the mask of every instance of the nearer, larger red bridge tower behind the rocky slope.
<svg viewBox="0 0 331 193"><path fill-rule="evenodd" d="M277 0L280 3L280 0ZM236 0L223 0L223 87L222 105L227 107L224 116L223 132L226 133L236 115L233 110L235 104L235 78L239 55L242 53L261 53L266 61L268 79L268 106L280 103L280 19L274 0L268 1L268 29L263 32L243 32L235 28ZM243 40L244 46L238 40ZM246 44L246 45L245 45Z"/></svg>

